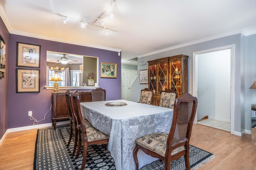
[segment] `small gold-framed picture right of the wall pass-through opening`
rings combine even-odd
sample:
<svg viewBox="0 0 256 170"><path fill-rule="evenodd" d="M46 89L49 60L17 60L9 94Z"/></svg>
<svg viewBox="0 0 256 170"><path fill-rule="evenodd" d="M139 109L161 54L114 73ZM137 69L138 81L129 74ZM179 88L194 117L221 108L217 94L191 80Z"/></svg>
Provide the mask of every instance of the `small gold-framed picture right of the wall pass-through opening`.
<svg viewBox="0 0 256 170"><path fill-rule="evenodd" d="M116 78L116 64L100 62L100 77Z"/></svg>

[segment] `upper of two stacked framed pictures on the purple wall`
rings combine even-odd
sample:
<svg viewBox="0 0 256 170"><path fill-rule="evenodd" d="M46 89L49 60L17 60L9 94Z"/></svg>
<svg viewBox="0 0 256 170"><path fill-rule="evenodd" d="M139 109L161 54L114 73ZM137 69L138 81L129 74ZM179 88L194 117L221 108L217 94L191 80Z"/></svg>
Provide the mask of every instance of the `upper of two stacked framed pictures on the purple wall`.
<svg viewBox="0 0 256 170"><path fill-rule="evenodd" d="M40 45L17 42L16 66L40 68Z"/></svg>

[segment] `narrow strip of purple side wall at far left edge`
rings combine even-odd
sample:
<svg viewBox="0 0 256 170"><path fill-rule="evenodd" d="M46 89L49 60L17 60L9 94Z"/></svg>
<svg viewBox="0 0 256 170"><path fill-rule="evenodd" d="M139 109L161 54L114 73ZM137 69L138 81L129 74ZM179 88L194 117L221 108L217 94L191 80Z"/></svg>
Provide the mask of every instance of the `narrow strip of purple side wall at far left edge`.
<svg viewBox="0 0 256 170"><path fill-rule="evenodd" d="M6 45L6 69L4 78L0 79L0 139L8 129L8 68L9 68L9 32L0 18L0 34Z"/></svg>

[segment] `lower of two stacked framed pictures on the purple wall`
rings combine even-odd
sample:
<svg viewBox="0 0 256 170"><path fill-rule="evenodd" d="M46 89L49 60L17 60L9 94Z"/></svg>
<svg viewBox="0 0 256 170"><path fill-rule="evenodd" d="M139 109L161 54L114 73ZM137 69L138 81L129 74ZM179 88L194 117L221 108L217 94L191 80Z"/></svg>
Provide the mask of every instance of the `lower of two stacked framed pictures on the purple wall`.
<svg viewBox="0 0 256 170"><path fill-rule="evenodd" d="M40 70L16 68L16 93L29 92L40 92Z"/></svg>

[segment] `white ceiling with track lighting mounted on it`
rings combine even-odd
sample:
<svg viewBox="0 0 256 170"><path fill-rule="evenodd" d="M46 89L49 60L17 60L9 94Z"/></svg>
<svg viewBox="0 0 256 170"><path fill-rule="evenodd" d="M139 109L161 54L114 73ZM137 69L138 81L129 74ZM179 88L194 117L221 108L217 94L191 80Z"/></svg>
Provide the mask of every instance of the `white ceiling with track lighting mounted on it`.
<svg viewBox="0 0 256 170"><path fill-rule="evenodd" d="M122 63L209 37L256 33L256 0L116 0L114 18L105 12L100 19L118 31L80 27L78 20L93 22L111 2L0 0L0 15L10 33L122 51Z"/></svg>

